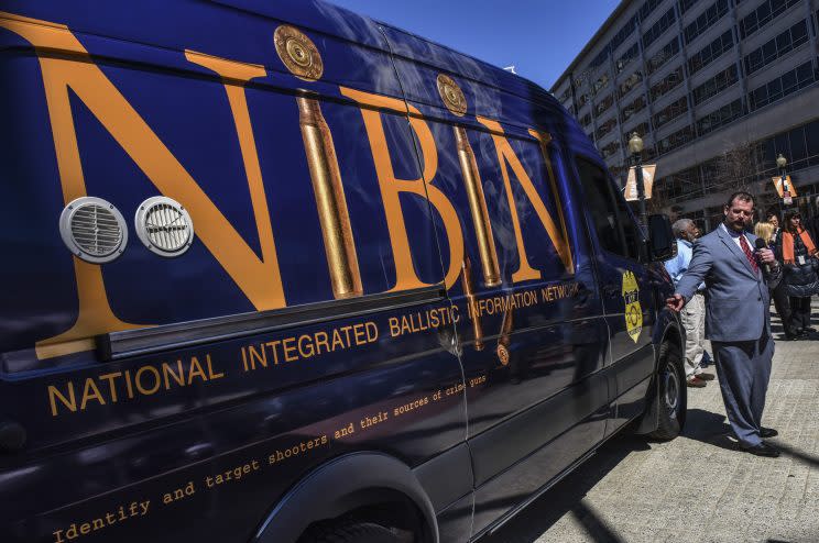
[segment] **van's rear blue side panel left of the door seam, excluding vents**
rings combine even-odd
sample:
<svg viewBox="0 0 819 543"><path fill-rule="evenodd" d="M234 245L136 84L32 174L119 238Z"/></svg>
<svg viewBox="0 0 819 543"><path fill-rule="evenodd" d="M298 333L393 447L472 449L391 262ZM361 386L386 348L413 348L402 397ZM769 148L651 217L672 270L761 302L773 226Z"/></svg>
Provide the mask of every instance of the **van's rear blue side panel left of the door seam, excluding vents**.
<svg viewBox="0 0 819 543"><path fill-rule="evenodd" d="M423 169L374 24L293 8L319 29L297 29L324 63L310 81L275 48L287 5L87 8L0 14L0 415L28 433L0 455L0 540L245 542L325 461L375 451L414 467L463 443L429 207L406 191L386 209L380 184L386 160L396 179ZM340 179L360 289L334 282L321 175ZM165 193L189 210L194 244L163 259L131 230L117 261L80 262L57 225L83 193L129 229ZM125 339L140 347L119 351Z"/></svg>

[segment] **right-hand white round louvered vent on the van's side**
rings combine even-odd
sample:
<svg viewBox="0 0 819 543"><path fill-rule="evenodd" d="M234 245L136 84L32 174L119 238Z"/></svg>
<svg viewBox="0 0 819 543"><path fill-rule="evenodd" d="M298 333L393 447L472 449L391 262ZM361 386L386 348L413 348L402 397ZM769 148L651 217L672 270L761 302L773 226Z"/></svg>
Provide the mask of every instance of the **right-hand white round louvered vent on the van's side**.
<svg viewBox="0 0 819 543"><path fill-rule="evenodd" d="M194 223L182 204L156 196L142 202L134 217L140 241L161 256L179 256L194 243Z"/></svg>

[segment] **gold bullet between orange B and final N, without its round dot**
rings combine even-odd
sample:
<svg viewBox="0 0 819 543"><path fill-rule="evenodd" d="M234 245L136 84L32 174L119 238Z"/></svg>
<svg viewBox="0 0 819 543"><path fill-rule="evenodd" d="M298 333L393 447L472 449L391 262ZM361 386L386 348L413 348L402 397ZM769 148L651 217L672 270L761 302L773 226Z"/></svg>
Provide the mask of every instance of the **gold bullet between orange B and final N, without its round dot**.
<svg viewBox="0 0 819 543"><path fill-rule="evenodd" d="M498 251L495 250L494 237L492 237L492 224L489 222L487 199L483 196L478 163L474 158L474 152L469 145L469 140L467 140L466 129L454 126L454 130L458 146L458 162L460 163L463 184L467 187L469 210L472 214L474 235L478 240L483 282L487 287L496 287L501 284L501 270L498 265Z"/></svg>

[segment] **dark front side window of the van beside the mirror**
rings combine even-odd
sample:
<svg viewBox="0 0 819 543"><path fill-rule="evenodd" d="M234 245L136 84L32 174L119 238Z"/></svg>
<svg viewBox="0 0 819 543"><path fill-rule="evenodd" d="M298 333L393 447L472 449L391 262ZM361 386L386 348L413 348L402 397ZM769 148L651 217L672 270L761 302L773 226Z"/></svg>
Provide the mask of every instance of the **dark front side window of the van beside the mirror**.
<svg viewBox="0 0 819 543"><path fill-rule="evenodd" d="M614 192L602 168L579 157L576 165L600 245L610 253L636 259L640 235L625 201Z"/></svg>

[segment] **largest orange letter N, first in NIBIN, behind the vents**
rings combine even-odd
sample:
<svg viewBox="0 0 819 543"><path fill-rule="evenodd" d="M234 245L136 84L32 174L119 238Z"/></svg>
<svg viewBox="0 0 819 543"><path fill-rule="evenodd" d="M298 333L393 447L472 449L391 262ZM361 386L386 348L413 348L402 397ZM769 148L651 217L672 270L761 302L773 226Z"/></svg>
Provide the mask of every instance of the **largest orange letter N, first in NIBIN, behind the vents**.
<svg viewBox="0 0 819 543"><path fill-rule="evenodd" d="M156 189L184 203L197 223L197 236L256 310L286 306L242 87L248 80L265 75L261 66L206 57L190 52L187 56L189 62L216 71L225 81L259 231L262 253L262 258L259 258L142 117L102 70L90 62L88 52L67 26L0 12L0 27L20 35L39 53L63 198L66 203L86 196L77 134L68 98L70 89ZM53 56L48 51L58 51L65 56ZM77 56L83 57L80 62L77 60ZM36 351L40 358L87 351L94 347L89 337L96 334L140 326L122 322L113 314L99 266L74 257L74 269L79 297L77 321L67 332L39 342Z"/></svg>

